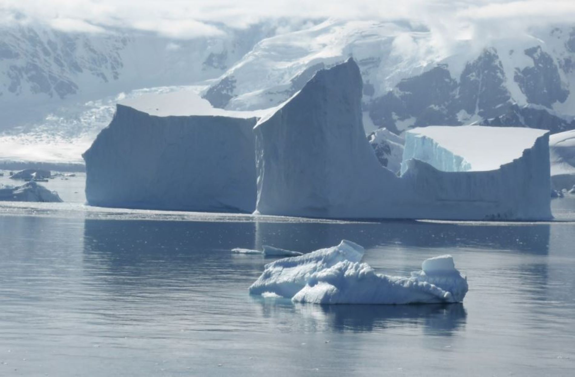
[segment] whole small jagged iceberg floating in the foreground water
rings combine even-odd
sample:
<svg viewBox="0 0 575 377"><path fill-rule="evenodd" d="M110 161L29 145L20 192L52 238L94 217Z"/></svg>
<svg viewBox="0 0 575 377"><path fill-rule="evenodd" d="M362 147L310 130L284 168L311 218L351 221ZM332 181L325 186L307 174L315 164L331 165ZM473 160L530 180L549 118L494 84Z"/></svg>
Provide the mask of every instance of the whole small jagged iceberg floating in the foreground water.
<svg viewBox="0 0 575 377"><path fill-rule="evenodd" d="M467 278L450 255L427 259L420 271L402 277L377 274L361 263L363 252L344 240L336 247L274 261L266 264L250 293L319 304L454 303L465 298Z"/></svg>

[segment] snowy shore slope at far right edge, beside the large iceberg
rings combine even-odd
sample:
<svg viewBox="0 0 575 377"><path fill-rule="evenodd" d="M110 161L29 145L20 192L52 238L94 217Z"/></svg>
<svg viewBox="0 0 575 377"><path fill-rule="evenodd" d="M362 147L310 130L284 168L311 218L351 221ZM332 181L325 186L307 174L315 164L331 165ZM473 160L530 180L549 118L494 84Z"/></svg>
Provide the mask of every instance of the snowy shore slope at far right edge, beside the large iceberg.
<svg viewBox="0 0 575 377"><path fill-rule="evenodd" d="M575 185L575 130L551 135L549 154L553 188L571 189Z"/></svg>

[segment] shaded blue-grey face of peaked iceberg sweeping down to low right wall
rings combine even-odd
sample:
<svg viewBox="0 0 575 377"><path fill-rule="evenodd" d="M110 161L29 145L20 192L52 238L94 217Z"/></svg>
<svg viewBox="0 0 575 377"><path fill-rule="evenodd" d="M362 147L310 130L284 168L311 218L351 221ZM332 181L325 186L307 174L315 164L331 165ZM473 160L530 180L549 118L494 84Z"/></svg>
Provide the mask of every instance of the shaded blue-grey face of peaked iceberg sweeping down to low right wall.
<svg viewBox="0 0 575 377"><path fill-rule="evenodd" d="M524 139L530 140L530 147L486 171L441 171L427 161L405 159L411 153L406 140L404 173L397 176L381 166L365 137L362 91L359 67L350 58L317 71L300 91L258 121L255 213L437 220L552 218L548 133L506 130L521 141L517 150L528 145ZM486 141L499 132L490 127L478 130ZM484 155L499 153L484 151Z"/></svg>

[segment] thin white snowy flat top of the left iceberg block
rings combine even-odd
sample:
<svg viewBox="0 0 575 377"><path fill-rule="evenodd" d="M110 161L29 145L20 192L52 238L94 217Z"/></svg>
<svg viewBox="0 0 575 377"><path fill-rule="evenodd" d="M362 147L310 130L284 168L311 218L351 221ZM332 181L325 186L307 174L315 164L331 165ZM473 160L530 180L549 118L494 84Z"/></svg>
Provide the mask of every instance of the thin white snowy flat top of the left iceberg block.
<svg viewBox="0 0 575 377"><path fill-rule="evenodd" d="M217 109L201 98L194 90L179 90L170 93L149 93L137 98L125 99L120 105L150 114L151 116L221 116L231 118L260 118L267 110L229 111Z"/></svg>

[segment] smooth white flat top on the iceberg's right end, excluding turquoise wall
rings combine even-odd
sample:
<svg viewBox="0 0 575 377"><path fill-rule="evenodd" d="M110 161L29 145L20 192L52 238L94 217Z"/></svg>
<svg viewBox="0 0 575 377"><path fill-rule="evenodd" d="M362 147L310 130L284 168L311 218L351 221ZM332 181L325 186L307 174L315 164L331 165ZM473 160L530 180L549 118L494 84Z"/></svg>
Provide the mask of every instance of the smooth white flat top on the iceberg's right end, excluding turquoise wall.
<svg viewBox="0 0 575 377"><path fill-rule="evenodd" d="M408 130L435 140L442 148L461 156L470 171L496 170L521 157L535 140L549 132L523 127L428 126Z"/></svg>

